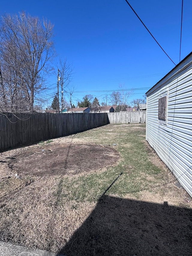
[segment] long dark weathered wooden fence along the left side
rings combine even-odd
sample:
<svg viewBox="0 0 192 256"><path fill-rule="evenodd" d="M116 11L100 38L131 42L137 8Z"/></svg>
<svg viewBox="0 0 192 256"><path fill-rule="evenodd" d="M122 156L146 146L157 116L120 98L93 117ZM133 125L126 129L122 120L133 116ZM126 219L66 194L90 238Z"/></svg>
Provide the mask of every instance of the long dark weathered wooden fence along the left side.
<svg viewBox="0 0 192 256"><path fill-rule="evenodd" d="M109 124L107 113L0 115L0 150Z"/></svg>

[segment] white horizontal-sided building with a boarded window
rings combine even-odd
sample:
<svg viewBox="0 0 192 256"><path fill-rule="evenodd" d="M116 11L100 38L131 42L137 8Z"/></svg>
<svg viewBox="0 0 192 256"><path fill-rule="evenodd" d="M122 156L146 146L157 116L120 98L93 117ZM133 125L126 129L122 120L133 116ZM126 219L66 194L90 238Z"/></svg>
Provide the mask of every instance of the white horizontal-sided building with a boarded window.
<svg viewBox="0 0 192 256"><path fill-rule="evenodd" d="M146 95L146 140L192 197L192 52Z"/></svg>

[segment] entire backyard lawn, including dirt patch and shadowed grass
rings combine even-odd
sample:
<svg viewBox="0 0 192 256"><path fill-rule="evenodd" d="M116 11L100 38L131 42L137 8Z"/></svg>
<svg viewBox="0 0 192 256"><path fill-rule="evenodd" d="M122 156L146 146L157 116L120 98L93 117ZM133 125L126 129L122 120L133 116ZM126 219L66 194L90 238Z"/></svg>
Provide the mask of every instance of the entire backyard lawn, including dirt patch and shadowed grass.
<svg viewBox="0 0 192 256"><path fill-rule="evenodd" d="M0 153L0 240L68 256L191 255L191 197L145 132L110 124Z"/></svg>

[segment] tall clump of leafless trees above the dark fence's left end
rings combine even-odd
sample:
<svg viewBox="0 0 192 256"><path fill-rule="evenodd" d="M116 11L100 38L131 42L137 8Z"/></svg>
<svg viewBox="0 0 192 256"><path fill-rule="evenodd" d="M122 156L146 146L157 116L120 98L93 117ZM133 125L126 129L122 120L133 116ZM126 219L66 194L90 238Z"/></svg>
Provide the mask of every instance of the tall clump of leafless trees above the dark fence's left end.
<svg viewBox="0 0 192 256"><path fill-rule="evenodd" d="M53 26L24 12L0 19L0 111L33 111L54 57Z"/></svg>

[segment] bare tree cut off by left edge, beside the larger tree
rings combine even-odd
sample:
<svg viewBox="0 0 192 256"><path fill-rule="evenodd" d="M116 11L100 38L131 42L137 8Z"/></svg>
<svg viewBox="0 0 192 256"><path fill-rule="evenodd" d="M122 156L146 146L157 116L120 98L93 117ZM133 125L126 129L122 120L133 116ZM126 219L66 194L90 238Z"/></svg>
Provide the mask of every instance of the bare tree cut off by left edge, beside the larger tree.
<svg viewBox="0 0 192 256"><path fill-rule="evenodd" d="M1 18L0 31L0 107L6 112L23 107L22 74L25 65L21 49L17 47L18 28L10 16Z"/></svg>

